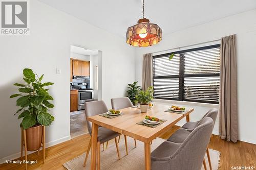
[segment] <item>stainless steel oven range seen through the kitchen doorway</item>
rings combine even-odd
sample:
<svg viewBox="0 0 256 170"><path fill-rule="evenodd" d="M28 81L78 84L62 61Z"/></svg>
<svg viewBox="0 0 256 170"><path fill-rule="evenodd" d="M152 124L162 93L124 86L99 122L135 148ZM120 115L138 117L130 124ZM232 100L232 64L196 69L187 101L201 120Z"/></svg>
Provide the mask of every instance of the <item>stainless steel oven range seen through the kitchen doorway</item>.
<svg viewBox="0 0 256 170"><path fill-rule="evenodd" d="M93 89L78 90L78 110L84 109L84 103L93 101Z"/></svg>

